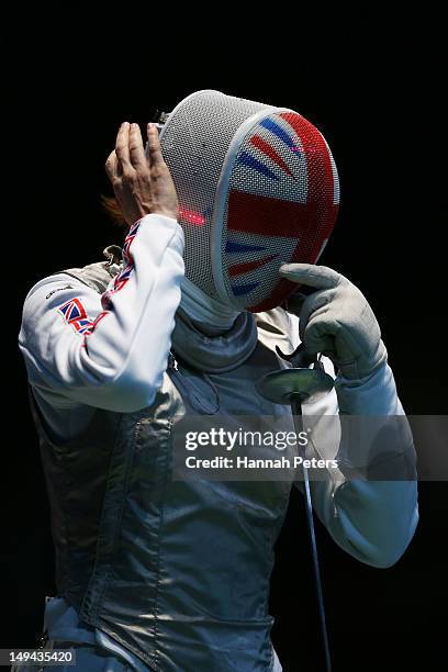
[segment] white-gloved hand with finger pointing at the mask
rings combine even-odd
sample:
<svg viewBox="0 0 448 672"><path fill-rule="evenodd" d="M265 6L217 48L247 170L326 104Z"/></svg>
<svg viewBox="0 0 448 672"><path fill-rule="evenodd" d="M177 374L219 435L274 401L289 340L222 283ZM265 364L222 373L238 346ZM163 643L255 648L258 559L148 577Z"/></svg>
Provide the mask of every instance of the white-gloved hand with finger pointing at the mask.
<svg viewBox="0 0 448 672"><path fill-rule="evenodd" d="M387 360L377 318L362 293L326 266L283 264L279 273L316 289L299 313L299 333L310 355L329 357L348 379L370 376Z"/></svg>

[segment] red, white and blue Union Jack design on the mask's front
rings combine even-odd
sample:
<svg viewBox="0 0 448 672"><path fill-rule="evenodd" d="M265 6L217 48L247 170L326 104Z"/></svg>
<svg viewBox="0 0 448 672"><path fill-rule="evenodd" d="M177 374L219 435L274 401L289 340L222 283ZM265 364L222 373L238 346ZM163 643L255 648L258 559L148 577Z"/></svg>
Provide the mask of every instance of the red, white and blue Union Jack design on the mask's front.
<svg viewBox="0 0 448 672"><path fill-rule="evenodd" d="M282 261L315 264L336 221L333 157L321 133L293 112L270 115L246 138L229 180L224 282L236 301L278 305L293 287ZM250 302L250 301L249 301Z"/></svg>

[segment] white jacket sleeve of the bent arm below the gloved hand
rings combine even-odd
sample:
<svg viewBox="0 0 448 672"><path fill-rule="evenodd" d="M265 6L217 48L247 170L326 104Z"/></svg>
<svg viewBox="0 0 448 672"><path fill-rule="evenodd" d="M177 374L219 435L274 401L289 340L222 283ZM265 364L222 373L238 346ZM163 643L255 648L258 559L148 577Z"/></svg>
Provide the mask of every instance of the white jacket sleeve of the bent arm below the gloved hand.
<svg viewBox="0 0 448 672"><path fill-rule="evenodd" d="M295 335L299 333L296 317L290 318L295 323ZM332 361L324 357L323 363L326 372L335 378ZM371 475L347 478L329 469L320 470L318 479L311 480L310 485L313 508L336 544L366 564L391 567L404 553L415 533L418 503L415 448L390 366L383 362L362 380L337 377L331 394L315 403L305 403L302 408L304 416L320 418L306 448L307 458L351 460L357 466L369 467L369 462L383 456L380 471L390 474L388 480ZM347 443L340 428L335 430L335 416L340 423L344 416L370 417L371 425L368 419L365 425L361 422L359 440ZM368 441L362 436L363 428L374 434ZM303 492L302 481L295 485Z"/></svg>

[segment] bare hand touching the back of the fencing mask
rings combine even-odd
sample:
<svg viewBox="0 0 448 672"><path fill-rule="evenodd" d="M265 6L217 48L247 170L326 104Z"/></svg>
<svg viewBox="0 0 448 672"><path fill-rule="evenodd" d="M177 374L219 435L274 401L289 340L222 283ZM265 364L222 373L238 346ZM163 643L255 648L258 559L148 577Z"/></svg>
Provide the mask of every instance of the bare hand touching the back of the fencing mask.
<svg viewBox="0 0 448 672"><path fill-rule="evenodd" d="M147 214L173 220L179 215L175 183L154 124L148 124L147 134L145 153L138 124L124 122L116 135L115 149L105 161L105 171L130 226Z"/></svg>

